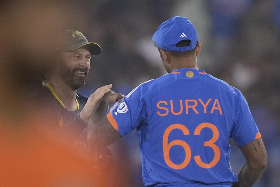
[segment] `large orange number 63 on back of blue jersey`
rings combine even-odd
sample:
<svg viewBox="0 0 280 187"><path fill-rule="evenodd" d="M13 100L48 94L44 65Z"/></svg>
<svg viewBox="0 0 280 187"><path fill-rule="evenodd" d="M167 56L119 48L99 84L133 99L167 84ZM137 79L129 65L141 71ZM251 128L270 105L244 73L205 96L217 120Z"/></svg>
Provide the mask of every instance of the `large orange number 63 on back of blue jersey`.
<svg viewBox="0 0 280 187"><path fill-rule="evenodd" d="M197 163L197 165L199 165L202 168L207 169L207 168L211 168L211 167L215 166L218 163L218 161L220 160L221 152L220 152L219 147L216 144L214 144L218 140L218 137L219 137L219 131L215 125L213 125L211 123L201 123L195 128L194 135L199 136L200 131L206 127L212 130L213 137L211 138L211 140L204 142L204 147L209 146L214 150L214 153L215 153L214 158L210 163L202 162L199 155L194 156L194 159L195 159L195 162ZM171 167L173 169L183 169L190 162L191 150L190 150L190 146L188 145L188 143L186 143L183 140L173 140L170 143L168 143L168 136L173 129L180 129L181 131L183 131L184 135L190 134L188 128L182 124L172 124L169 127L167 127L167 129L164 131L163 139L162 139L163 157L164 157L166 164L169 167ZM182 146L185 150L185 160L181 164L174 164L170 160L169 150L174 145Z"/></svg>

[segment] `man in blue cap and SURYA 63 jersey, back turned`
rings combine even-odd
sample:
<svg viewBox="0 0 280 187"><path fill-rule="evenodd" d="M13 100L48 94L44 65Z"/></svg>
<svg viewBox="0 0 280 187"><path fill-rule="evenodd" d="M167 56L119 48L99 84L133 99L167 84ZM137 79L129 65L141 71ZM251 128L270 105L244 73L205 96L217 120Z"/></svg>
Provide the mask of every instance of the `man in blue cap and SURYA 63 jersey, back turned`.
<svg viewBox="0 0 280 187"><path fill-rule="evenodd" d="M116 96L101 98L88 139L98 134L108 145L136 128L145 186L253 186L267 156L242 93L198 69L201 47L187 18L163 22L153 41L168 73L140 84L107 116ZM229 163L230 138L247 160L238 176Z"/></svg>

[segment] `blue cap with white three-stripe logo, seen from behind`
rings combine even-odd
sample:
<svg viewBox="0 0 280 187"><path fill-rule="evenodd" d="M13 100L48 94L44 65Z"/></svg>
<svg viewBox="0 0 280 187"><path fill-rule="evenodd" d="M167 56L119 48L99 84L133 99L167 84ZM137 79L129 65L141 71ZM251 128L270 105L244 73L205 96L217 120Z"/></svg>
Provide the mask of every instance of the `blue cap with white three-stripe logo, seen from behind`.
<svg viewBox="0 0 280 187"><path fill-rule="evenodd" d="M177 47L182 40L190 40L189 46ZM153 35L153 41L165 51L188 51L195 48L197 35L195 27L188 18L176 16L163 22Z"/></svg>

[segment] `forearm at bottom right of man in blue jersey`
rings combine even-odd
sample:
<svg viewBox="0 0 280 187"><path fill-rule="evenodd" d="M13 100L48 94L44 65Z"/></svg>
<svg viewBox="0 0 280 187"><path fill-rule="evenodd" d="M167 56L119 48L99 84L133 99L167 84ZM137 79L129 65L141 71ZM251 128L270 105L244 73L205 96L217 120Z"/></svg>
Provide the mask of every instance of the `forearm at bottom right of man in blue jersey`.
<svg viewBox="0 0 280 187"><path fill-rule="evenodd" d="M265 171L265 167L251 168L246 163L238 175L238 182L234 183L232 187L252 187Z"/></svg>

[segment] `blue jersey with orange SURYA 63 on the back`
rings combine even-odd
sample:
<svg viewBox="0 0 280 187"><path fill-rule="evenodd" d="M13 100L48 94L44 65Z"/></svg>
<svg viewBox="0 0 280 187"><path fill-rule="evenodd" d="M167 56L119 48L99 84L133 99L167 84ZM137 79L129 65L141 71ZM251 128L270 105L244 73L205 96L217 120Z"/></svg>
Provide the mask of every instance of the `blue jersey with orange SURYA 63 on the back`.
<svg viewBox="0 0 280 187"><path fill-rule="evenodd" d="M242 93L203 70L147 81L107 115L122 135L137 129L145 186L231 186L229 138L260 138Z"/></svg>

